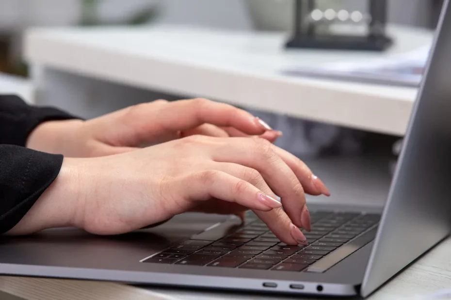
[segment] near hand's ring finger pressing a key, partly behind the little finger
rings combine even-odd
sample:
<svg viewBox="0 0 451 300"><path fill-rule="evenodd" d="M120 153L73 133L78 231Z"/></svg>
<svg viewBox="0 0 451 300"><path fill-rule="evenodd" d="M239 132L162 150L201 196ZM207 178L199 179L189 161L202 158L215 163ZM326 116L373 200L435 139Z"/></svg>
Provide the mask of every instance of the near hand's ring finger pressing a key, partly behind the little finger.
<svg viewBox="0 0 451 300"><path fill-rule="evenodd" d="M227 172L242 180L256 186L260 191L267 195L275 197L273 191L265 182L261 174L253 168L230 163L219 163L215 165L215 169ZM254 212L258 217L268 225L268 228L275 234L275 236L290 245L302 244L306 245L306 237L304 234L294 226L288 215L281 209L274 209L271 211L257 211Z"/></svg>

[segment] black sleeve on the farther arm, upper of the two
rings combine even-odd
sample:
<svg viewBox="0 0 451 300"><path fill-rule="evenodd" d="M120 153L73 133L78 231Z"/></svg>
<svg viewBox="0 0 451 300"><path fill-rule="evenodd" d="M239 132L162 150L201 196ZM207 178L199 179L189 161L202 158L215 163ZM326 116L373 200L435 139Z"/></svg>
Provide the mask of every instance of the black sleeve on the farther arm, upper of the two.
<svg viewBox="0 0 451 300"><path fill-rule="evenodd" d="M40 123L68 119L77 118L56 108L27 105L15 95L0 95L0 144L25 146Z"/></svg>

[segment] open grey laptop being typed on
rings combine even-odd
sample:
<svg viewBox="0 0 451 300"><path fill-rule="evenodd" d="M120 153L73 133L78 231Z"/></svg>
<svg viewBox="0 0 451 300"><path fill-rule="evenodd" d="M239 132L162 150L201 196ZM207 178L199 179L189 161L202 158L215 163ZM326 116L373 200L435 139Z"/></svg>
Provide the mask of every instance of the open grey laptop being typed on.
<svg viewBox="0 0 451 300"><path fill-rule="evenodd" d="M0 239L0 272L265 293L368 296L449 235L451 6L443 6L418 99L380 210L310 204L308 245L281 243L248 213L182 214L116 237L73 228ZM210 226L211 224L214 224Z"/></svg>

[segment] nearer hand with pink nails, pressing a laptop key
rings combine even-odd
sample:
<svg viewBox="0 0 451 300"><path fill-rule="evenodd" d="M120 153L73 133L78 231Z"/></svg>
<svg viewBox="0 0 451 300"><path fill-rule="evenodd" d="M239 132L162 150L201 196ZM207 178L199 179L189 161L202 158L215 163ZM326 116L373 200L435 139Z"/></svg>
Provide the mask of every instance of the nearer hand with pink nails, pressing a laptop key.
<svg viewBox="0 0 451 300"><path fill-rule="evenodd" d="M66 225L121 234L185 211L251 209L283 242L305 244L298 229L310 230L305 192L329 194L301 160L270 142L193 135L117 155L65 158L58 178L9 234Z"/></svg>

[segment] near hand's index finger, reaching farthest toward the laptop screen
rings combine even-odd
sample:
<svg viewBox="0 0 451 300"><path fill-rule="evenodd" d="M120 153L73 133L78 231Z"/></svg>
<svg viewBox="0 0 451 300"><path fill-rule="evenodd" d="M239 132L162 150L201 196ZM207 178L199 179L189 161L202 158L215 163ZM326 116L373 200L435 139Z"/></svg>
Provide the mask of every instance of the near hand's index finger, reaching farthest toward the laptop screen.
<svg viewBox="0 0 451 300"><path fill-rule="evenodd" d="M330 196L329 189L321 179L313 174L310 168L302 160L279 147L274 147L274 151L283 159L291 170L293 170L308 194Z"/></svg>

